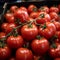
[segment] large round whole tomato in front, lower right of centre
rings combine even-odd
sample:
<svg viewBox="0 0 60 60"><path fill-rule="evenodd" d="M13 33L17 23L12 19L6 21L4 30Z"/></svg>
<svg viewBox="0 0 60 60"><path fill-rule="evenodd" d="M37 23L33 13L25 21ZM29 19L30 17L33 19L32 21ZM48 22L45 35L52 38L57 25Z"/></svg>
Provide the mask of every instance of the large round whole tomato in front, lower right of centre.
<svg viewBox="0 0 60 60"><path fill-rule="evenodd" d="M34 53L37 55L44 55L49 49L49 42L45 38L35 39L31 43L31 47Z"/></svg>

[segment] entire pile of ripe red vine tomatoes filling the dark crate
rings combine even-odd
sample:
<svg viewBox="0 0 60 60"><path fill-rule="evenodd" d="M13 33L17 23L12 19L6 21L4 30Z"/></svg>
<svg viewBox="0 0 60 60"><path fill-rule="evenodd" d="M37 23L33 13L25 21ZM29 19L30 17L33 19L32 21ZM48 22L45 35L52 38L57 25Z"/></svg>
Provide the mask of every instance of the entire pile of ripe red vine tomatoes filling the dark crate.
<svg viewBox="0 0 60 60"><path fill-rule="evenodd" d="M11 6L1 24L1 60L60 60L60 5Z"/></svg>

